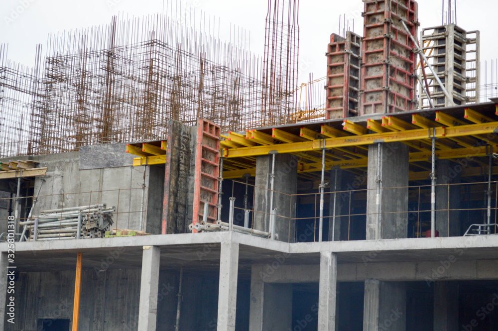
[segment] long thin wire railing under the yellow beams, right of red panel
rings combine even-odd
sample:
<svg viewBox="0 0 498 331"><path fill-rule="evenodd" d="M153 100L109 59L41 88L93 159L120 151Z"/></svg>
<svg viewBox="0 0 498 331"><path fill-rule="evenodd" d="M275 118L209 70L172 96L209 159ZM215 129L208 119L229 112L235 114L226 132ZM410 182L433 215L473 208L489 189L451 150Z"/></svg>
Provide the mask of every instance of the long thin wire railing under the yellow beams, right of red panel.
<svg viewBox="0 0 498 331"><path fill-rule="evenodd" d="M438 184L434 210L431 185L326 192L323 202L319 192L288 194L235 180L229 185L224 186L230 196L221 213L224 221L200 230L273 234L287 242L424 238L432 236L434 214L434 236L498 231L498 182Z"/></svg>

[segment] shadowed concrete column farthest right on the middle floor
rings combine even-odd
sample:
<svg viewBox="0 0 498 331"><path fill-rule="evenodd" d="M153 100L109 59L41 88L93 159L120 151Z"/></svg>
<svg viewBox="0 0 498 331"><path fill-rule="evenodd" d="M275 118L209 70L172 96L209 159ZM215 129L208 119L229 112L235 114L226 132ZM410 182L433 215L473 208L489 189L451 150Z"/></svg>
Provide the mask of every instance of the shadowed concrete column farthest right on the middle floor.
<svg viewBox="0 0 498 331"><path fill-rule="evenodd" d="M460 211L455 211L460 208L460 186L444 185L460 184L461 172L462 166L458 163L450 160L436 161L436 230L441 237L461 235Z"/></svg>

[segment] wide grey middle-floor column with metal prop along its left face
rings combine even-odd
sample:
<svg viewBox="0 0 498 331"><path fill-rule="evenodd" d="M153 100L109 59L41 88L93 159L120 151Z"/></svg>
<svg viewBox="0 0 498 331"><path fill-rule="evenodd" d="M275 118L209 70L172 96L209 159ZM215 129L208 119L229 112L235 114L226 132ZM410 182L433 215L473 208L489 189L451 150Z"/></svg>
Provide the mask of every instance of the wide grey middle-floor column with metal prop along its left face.
<svg viewBox="0 0 498 331"><path fill-rule="evenodd" d="M400 142L369 146L367 240L408 236L408 152Z"/></svg>

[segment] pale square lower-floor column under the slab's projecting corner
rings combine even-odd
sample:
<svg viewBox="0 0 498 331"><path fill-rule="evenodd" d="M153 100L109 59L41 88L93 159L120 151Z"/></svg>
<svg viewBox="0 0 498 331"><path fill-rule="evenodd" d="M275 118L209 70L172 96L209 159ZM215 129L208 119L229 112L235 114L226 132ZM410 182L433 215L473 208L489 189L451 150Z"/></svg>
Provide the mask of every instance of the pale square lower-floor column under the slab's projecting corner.
<svg viewBox="0 0 498 331"><path fill-rule="evenodd" d="M221 244L220 287L218 294L218 331L235 331L239 244Z"/></svg>

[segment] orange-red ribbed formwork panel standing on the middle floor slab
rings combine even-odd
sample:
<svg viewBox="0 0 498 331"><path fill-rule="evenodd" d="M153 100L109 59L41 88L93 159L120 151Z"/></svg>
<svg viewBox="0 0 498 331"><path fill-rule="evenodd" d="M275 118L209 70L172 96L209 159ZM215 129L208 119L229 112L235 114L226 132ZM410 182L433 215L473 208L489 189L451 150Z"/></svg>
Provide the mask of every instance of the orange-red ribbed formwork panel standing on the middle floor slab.
<svg viewBox="0 0 498 331"><path fill-rule="evenodd" d="M197 124L193 225L202 223L205 203L209 205L207 222L216 222L220 179L220 126L202 118Z"/></svg>

